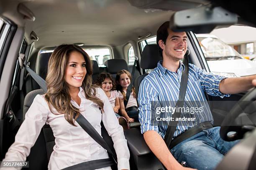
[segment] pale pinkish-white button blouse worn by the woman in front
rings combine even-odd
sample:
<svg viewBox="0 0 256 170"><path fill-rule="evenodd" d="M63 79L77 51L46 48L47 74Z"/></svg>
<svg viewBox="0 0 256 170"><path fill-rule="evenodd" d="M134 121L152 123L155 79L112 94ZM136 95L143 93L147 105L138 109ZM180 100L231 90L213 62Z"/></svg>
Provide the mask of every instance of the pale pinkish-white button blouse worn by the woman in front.
<svg viewBox="0 0 256 170"><path fill-rule="evenodd" d="M96 91L96 96L104 102L103 113L94 102L85 98L81 87L78 93L81 104L79 106L72 100L72 105L79 108L81 114L86 117L100 135L100 122L103 121L114 143L118 157L118 170L129 170L130 153L123 128L118 124L118 119L105 92L100 88L97 88ZM52 111L58 113L54 108ZM109 158L107 151L96 143L76 121L75 125L77 126L73 126L67 122L64 114L53 114L49 110L44 95L37 95L15 136L15 142L10 146L3 161L25 161L45 123L50 125L55 137L54 151L51 153L48 165L50 170L63 169L90 160ZM100 170L111 170L111 168L101 168Z"/></svg>

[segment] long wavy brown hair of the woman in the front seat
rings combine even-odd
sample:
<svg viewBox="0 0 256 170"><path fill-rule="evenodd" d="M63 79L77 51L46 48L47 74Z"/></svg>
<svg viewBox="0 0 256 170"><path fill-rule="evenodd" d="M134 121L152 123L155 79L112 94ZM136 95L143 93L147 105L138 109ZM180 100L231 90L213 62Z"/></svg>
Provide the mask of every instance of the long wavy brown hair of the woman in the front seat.
<svg viewBox="0 0 256 170"><path fill-rule="evenodd" d="M96 97L96 90L92 85L92 61L90 60L89 55L77 45L60 45L56 47L49 59L48 72L46 75L47 92L45 98L49 107L52 106L59 113L64 114L65 119L71 125L74 125L74 114L76 114L76 120L80 112L78 108L71 104L69 87L67 82L64 80L64 76L67 62L69 60L69 55L74 51L82 53L86 62L85 68L87 73L81 86L84 90L85 97L88 100L95 102L103 111L103 102Z"/></svg>

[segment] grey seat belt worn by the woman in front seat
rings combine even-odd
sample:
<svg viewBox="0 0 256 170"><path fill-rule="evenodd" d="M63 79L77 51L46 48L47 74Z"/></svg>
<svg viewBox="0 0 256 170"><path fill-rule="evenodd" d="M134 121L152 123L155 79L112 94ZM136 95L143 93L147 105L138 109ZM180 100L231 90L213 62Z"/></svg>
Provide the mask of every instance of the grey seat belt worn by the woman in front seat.
<svg viewBox="0 0 256 170"><path fill-rule="evenodd" d="M36 74L36 72L31 70L28 66L26 66L24 64L23 64L23 66L30 73L31 77L38 83L38 85L44 90L44 92L47 92L45 80L42 77L40 77L38 74ZM88 122L88 120L86 120L86 118L82 114L79 114L76 121L84 129L84 131L87 132L88 135L90 135L90 137L92 137L92 139L94 139L99 145L101 145L105 150L107 150L108 153L110 153L113 160L111 160L110 158L102 159L102 160L92 160L92 161L89 161L90 163L85 162L85 163L79 163L77 165L74 165L74 166L72 166L72 169L74 169L74 168L77 168L77 170L84 169L85 165L90 164L90 167L92 167L92 165L95 165L95 167L92 167L92 170L94 170L94 169L98 169L99 165L107 167L107 166L117 164L117 156L115 154L115 151L110 149L108 144L100 136L100 134L95 130L95 128L93 128L93 126L90 124L90 122ZM99 163L101 161L102 161L102 163ZM97 165L97 167L96 167L96 165ZM104 168L104 167L100 167L100 168Z"/></svg>

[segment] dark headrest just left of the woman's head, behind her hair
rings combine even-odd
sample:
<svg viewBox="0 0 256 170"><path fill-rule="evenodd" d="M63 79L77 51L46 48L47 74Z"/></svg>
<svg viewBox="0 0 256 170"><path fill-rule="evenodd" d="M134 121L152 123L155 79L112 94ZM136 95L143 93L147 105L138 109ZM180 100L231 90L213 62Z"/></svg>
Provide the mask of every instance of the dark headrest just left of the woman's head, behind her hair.
<svg viewBox="0 0 256 170"><path fill-rule="evenodd" d="M47 74L48 62L52 52L40 53L36 61L36 73L44 80Z"/></svg>

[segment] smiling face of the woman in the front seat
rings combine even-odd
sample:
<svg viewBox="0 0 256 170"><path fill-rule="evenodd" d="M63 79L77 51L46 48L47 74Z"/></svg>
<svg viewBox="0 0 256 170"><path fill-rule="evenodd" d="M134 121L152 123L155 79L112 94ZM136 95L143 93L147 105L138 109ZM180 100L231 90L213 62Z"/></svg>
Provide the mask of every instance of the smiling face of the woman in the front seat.
<svg viewBox="0 0 256 170"><path fill-rule="evenodd" d="M84 56L77 51L71 52L64 76L64 80L67 82L69 89L81 87L85 75L86 68Z"/></svg>

